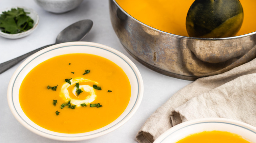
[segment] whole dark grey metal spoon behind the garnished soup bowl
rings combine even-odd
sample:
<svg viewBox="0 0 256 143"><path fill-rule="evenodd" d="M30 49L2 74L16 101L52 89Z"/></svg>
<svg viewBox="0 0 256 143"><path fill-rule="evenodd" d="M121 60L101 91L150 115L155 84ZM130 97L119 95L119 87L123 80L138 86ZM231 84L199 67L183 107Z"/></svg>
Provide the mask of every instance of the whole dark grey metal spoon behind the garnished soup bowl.
<svg viewBox="0 0 256 143"><path fill-rule="evenodd" d="M54 44L71 42L71 41L80 41L91 30L92 26L93 26L93 21L91 21L91 20L81 20L74 24L71 24L59 33ZM4 63L1 63L0 64L0 74L3 73L4 71L10 69L12 66L16 65L17 63L19 63L21 60L25 59L26 57L28 57L46 47L52 46L54 44L43 46L43 47L35 49L34 51L31 51L27 54L24 54L22 56L19 56L14 59L11 59L9 61L6 61Z"/></svg>

